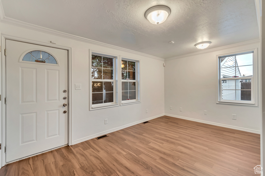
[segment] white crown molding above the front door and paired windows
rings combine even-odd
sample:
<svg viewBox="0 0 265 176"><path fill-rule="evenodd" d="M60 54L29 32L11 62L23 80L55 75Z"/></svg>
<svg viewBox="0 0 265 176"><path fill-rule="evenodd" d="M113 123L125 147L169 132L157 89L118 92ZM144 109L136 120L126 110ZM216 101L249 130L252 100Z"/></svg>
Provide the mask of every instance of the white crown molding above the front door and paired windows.
<svg viewBox="0 0 265 176"><path fill-rule="evenodd" d="M48 29L46 27L41 27L41 26L38 26L38 25L33 25L33 24L30 24L30 23L27 23L27 22L23 22L23 21L20 21L20 20L16 20L16 19L13 19L13 18L6 17L5 13L3 11L3 7L2 7L1 1L0 1L0 22L6 23L6 24L10 24L10 25L14 25L14 26L18 26L18 27L23 27L23 28L30 29L30 30L39 31L39 32L46 33L46 34L56 35L56 36L60 36L60 37L64 37L64 38L68 38L68 39L72 39L72 40L76 40L76 41L81 41L81 42L85 42L85 43L89 43L89 44L99 45L99 46L103 46L103 47L106 47L106 48L116 49L116 50L124 51L124 52L127 52L127 53L137 54L137 55L141 55L141 56L144 56L144 57L157 59L157 60L160 60L160 61L164 61L165 60L163 58L152 56L152 55L149 55L149 54L140 53L140 52L133 51L133 50L130 50L130 49L117 47L117 46L114 46L114 45L102 43L102 42L95 41L95 40L90 40L90 39L83 38L83 37L80 37L80 36L63 33L63 32L60 32L60 31L53 30L53 29Z"/></svg>

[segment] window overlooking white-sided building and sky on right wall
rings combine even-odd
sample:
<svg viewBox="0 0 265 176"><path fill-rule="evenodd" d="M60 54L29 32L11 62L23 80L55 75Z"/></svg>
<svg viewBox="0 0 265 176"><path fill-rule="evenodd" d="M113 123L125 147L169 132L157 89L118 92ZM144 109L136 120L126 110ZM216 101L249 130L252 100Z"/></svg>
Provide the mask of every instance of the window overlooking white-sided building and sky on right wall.
<svg viewBox="0 0 265 176"><path fill-rule="evenodd" d="M218 57L219 102L254 104L254 52Z"/></svg>

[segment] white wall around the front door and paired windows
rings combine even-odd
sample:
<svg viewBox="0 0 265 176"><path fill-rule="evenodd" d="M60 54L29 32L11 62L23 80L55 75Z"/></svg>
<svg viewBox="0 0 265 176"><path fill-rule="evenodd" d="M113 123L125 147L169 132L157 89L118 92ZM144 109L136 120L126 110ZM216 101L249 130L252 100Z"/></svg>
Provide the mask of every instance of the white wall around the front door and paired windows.
<svg viewBox="0 0 265 176"><path fill-rule="evenodd" d="M72 100L73 141L125 126L157 115L164 115L164 67L163 59L154 59L144 54L113 49L98 44L64 38L24 27L0 23L2 35L10 35L71 48L72 52ZM3 47L2 47L3 48ZM141 103L89 111L89 49L124 57L141 59ZM7 51L8 53L8 51ZM81 84L82 90L74 90L74 84ZM145 113L148 109L148 113ZM108 118L108 124L104 119Z"/></svg>

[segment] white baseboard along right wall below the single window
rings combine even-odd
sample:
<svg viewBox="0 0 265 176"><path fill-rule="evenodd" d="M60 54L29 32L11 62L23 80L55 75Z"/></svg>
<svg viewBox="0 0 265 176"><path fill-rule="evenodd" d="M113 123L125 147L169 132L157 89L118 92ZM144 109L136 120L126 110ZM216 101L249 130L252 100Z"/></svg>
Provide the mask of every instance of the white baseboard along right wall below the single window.
<svg viewBox="0 0 265 176"><path fill-rule="evenodd" d="M226 124L222 124L222 123L215 123L215 122L203 121L203 120L198 120L198 119L192 119L192 118L182 117L182 116L172 115L172 114L165 114L165 115L169 116L169 117L175 117L175 118L179 118L179 119L185 119L185 120L189 120L189 121L206 123L206 124L215 125L215 126L219 126L219 127L237 129L240 131L246 131L246 132L250 132L250 133L260 134L260 131L254 130L254 129L248 129L248 128L236 127L236 126L232 126L232 125L226 125Z"/></svg>

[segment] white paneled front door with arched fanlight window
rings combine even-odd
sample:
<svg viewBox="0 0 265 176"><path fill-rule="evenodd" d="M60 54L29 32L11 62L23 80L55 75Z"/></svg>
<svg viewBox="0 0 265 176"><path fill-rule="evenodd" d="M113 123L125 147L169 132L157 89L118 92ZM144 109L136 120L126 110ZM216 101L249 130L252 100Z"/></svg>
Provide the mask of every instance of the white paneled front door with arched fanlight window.
<svg viewBox="0 0 265 176"><path fill-rule="evenodd" d="M14 40L6 50L6 162L67 144L68 51Z"/></svg>

